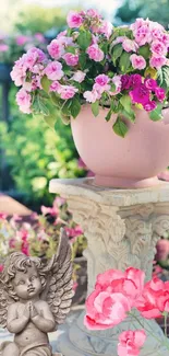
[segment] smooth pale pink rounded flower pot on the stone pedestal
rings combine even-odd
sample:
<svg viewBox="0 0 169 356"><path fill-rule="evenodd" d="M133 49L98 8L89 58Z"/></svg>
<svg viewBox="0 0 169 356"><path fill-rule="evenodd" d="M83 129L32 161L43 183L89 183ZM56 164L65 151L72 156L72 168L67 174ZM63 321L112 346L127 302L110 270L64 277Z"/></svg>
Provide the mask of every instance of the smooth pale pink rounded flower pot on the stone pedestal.
<svg viewBox="0 0 169 356"><path fill-rule="evenodd" d="M109 187L144 187L158 184L157 174L169 165L169 108L164 119L153 122L145 111L136 110L135 124L125 138L117 136L105 120L108 110L95 117L90 105L71 119L73 139L80 157L95 173L95 184Z"/></svg>

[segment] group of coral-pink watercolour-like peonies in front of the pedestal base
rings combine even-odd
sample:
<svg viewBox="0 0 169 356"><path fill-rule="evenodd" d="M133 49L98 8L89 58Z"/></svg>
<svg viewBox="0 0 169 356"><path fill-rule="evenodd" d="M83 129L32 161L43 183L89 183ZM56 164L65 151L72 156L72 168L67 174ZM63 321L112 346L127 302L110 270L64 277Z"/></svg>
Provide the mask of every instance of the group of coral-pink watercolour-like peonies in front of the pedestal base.
<svg viewBox="0 0 169 356"><path fill-rule="evenodd" d="M133 267L124 272L109 269L97 276L95 290L87 297L84 324L89 330L106 330L118 325L131 315L143 326L141 330L128 330L119 335L118 355L140 355L147 337L145 319L165 315L165 330L169 313L169 282L162 282L157 276L145 283L145 274ZM134 311L134 312L133 312ZM167 335L166 335L167 336ZM169 349L167 340L166 347Z"/></svg>

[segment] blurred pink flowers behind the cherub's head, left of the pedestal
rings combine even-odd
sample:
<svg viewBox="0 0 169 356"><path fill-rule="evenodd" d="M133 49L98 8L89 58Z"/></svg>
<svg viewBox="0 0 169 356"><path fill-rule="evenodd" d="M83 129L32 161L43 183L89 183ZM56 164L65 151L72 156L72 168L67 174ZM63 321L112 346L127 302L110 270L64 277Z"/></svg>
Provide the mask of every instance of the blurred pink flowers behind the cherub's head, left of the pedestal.
<svg viewBox="0 0 169 356"><path fill-rule="evenodd" d="M81 227L74 223L62 197L58 196L51 207L41 206L41 214L34 213L28 219L0 214L0 272L3 269L5 256L13 251L50 259L57 250L61 228L67 231L72 245L72 259L82 255L86 248L86 239ZM75 262L73 265L75 288L80 266Z"/></svg>

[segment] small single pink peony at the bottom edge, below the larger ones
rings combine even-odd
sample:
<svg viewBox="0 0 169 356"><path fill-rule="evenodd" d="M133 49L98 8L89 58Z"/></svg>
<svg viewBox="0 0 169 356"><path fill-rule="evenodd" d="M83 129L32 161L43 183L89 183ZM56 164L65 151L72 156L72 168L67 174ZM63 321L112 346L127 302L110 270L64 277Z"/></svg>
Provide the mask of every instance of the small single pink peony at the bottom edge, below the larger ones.
<svg viewBox="0 0 169 356"><path fill-rule="evenodd" d="M146 334L144 330L123 331L119 336L118 355L137 356L141 347L145 343Z"/></svg>

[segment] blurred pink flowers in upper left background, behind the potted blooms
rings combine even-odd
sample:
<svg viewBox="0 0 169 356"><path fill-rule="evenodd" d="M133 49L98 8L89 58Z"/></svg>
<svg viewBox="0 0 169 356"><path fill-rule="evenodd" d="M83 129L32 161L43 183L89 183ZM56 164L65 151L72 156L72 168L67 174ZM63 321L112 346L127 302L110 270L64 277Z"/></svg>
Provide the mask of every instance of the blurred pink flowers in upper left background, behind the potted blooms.
<svg viewBox="0 0 169 356"><path fill-rule="evenodd" d="M46 50L46 39L41 33L34 35L1 35L0 62L13 65L14 61L32 47Z"/></svg>

